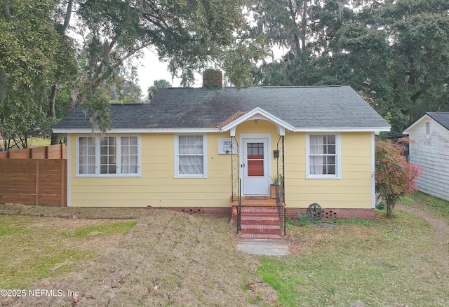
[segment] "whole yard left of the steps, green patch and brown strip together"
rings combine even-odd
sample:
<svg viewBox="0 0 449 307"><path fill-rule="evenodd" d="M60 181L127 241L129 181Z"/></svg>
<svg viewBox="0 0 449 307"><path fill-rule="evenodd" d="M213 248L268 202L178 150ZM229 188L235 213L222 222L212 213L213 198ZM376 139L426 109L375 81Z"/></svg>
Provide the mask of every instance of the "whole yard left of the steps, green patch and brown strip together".
<svg viewBox="0 0 449 307"><path fill-rule="evenodd" d="M1 306L278 304L254 274L258 257L234 247L229 216L135 209L140 216L123 221L110 218L132 215L126 208L81 209L0 204L0 289L79 293L0 297Z"/></svg>

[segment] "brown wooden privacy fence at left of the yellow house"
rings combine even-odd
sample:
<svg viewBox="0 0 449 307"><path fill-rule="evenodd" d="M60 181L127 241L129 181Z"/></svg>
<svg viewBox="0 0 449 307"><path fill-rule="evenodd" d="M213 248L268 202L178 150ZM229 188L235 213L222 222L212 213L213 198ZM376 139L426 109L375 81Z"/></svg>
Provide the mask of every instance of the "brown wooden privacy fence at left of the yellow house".
<svg viewBox="0 0 449 307"><path fill-rule="evenodd" d="M66 158L43 158L42 152L56 156L54 149L45 147L29 151L29 156L37 152L39 158L17 158L16 153L0 158L0 203L67 206L67 146L55 146L60 156L65 147Z"/></svg>

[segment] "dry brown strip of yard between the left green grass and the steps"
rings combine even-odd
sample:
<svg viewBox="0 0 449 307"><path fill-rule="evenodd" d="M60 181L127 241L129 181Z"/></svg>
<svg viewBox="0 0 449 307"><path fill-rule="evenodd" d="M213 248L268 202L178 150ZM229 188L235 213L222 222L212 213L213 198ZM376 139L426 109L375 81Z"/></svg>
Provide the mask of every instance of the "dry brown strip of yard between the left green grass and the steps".
<svg viewBox="0 0 449 307"><path fill-rule="evenodd" d="M112 210L114 211L114 210ZM227 216L142 210L138 224L95 261L29 289L62 296L21 297L10 306L277 306L277 293L255 271L257 257L239 252ZM99 239L100 240L100 239ZM92 249L100 241L93 241ZM73 296L77 292L78 296Z"/></svg>

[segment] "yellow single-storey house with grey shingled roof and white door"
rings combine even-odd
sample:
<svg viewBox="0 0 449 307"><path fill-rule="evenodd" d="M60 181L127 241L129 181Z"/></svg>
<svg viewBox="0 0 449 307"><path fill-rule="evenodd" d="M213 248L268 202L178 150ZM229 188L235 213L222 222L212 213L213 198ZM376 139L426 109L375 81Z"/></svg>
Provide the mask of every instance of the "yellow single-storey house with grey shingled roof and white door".
<svg viewBox="0 0 449 307"><path fill-rule="evenodd" d="M245 207L276 202L291 217L312 203L326 217L374 216L375 133L390 125L349 86L167 88L110 110L104 135L82 107L53 128L67 133L69 206L234 206L241 224Z"/></svg>

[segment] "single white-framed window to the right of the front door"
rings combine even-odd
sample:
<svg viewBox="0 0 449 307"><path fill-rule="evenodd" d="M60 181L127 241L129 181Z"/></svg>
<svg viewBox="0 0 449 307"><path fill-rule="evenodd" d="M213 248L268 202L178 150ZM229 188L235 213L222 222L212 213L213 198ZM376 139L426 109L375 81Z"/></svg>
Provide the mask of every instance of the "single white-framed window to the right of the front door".
<svg viewBox="0 0 449 307"><path fill-rule="evenodd" d="M306 137L307 178L340 178L340 134Z"/></svg>

